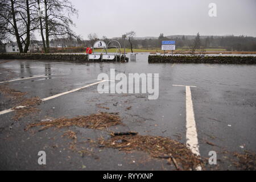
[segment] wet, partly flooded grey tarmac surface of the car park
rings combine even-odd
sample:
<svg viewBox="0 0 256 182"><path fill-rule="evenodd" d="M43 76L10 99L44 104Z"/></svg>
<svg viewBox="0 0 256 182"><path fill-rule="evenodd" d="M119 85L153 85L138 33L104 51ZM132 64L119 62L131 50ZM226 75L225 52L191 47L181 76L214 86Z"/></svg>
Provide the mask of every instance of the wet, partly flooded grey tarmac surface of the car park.
<svg viewBox="0 0 256 182"><path fill-rule="evenodd" d="M165 159L151 158L144 152L122 152L99 148L89 140L110 138L108 131L69 127L37 132L38 127L24 131L28 123L47 118L76 117L105 111L118 112L125 125L109 131L137 131L141 135L169 137L186 141L185 88L191 88L199 150L203 158L217 152L217 166L206 169L236 169L232 157L224 151L256 151L256 66L226 64L148 64L148 54L138 54L129 63L72 63L61 61L1 60L0 81L46 75L9 82L8 86L26 97L46 98L97 82L99 73L159 73L159 98L148 100L148 94L99 94L97 85L43 102L40 113L16 122L14 113L0 115L1 170L170 170ZM0 109L12 107L0 95ZM109 107L102 109L97 105ZM130 107L130 109L127 109ZM61 137L65 131L77 134L77 144L91 151L80 155L69 150L72 140ZM208 144L213 143L214 146ZM47 164L38 164L38 152L46 151ZM230 160L231 159L231 160Z"/></svg>

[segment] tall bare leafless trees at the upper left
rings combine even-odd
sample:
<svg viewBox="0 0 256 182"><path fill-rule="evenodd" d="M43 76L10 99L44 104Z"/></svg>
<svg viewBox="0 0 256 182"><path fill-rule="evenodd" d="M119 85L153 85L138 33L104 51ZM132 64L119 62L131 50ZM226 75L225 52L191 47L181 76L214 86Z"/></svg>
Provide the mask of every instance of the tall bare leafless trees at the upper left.
<svg viewBox="0 0 256 182"><path fill-rule="evenodd" d="M0 38L15 37L20 53L27 53L36 32L49 53L50 38L75 37L71 16L78 15L68 0L0 0Z"/></svg>

